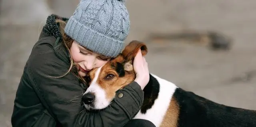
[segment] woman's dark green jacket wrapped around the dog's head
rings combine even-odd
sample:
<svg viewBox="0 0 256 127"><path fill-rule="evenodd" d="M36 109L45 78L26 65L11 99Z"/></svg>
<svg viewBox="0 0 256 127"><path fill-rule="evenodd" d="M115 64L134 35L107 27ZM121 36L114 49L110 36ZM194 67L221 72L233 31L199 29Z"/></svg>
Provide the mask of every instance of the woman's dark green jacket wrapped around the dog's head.
<svg viewBox="0 0 256 127"><path fill-rule="evenodd" d="M122 127L138 113L144 97L142 89L132 82L117 91L123 97L116 96L111 107L93 113L83 110L83 85L76 76L70 72L62 78L49 77L63 75L70 66L68 52L56 41L59 30L55 18L48 17L24 67L14 101L12 126Z"/></svg>

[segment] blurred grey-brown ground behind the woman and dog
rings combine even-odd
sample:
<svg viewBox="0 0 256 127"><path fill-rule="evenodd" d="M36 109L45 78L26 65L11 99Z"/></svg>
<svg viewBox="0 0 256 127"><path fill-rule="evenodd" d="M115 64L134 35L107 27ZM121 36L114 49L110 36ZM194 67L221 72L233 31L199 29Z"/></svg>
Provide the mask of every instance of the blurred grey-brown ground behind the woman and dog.
<svg viewBox="0 0 256 127"><path fill-rule="evenodd" d="M0 0L0 127L11 127L16 89L50 14L78 0ZM256 109L255 0L127 0L126 43L148 46L151 73L217 103Z"/></svg>

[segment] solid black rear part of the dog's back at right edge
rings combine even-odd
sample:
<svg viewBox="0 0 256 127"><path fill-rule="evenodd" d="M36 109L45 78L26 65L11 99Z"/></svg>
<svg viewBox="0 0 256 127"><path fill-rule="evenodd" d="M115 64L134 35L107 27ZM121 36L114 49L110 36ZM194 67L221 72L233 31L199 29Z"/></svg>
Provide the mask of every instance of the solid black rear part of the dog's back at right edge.
<svg viewBox="0 0 256 127"><path fill-rule="evenodd" d="M256 127L256 111L229 107L176 89L173 97L179 107L179 127Z"/></svg>

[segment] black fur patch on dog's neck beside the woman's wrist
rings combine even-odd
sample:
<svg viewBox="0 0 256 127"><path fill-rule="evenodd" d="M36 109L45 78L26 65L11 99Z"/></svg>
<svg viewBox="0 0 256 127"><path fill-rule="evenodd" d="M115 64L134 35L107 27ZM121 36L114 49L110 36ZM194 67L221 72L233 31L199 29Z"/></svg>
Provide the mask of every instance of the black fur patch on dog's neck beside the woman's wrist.
<svg viewBox="0 0 256 127"><path fill-rule="evenodd" d="M144 101L141 107L141 113L146 113L147 109L150 109L156 98L158 97L160 85L155 77L150 74L149 82L146 87L143 89L144 91Z"/></svg>

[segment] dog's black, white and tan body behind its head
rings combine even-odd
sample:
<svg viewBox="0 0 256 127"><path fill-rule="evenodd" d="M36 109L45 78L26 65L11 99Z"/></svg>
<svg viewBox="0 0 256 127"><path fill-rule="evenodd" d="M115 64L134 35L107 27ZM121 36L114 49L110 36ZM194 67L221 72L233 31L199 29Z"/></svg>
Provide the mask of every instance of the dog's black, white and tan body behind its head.
<svg viewBox="0 0 256 127"><path fill-rule="evenodd" d="M150 75L144 102L134 119L156 127L256 127L256 111L229 107Z"/></svg>

